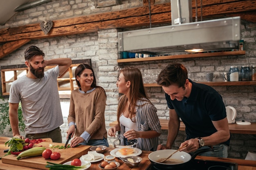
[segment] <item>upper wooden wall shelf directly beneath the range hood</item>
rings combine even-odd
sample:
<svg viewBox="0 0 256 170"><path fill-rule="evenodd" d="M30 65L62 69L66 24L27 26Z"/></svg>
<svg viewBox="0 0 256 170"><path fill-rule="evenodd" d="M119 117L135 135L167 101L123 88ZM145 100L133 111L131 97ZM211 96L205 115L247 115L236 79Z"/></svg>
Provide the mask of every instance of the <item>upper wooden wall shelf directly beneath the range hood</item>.
<svg viewBox="0 0 256 170"><path fill-rule="evenodd" d="M195 57L216 57L216 56L227 56L227 55L245 55L245 51L223 51L223 52L213 52L213 53L166 55L166 56L159 56L159 57L126 58L126 59L117 59L117 63L143 62L143 61L169 60L169 59L182 59L182 58L195 58Z"/></svg>

